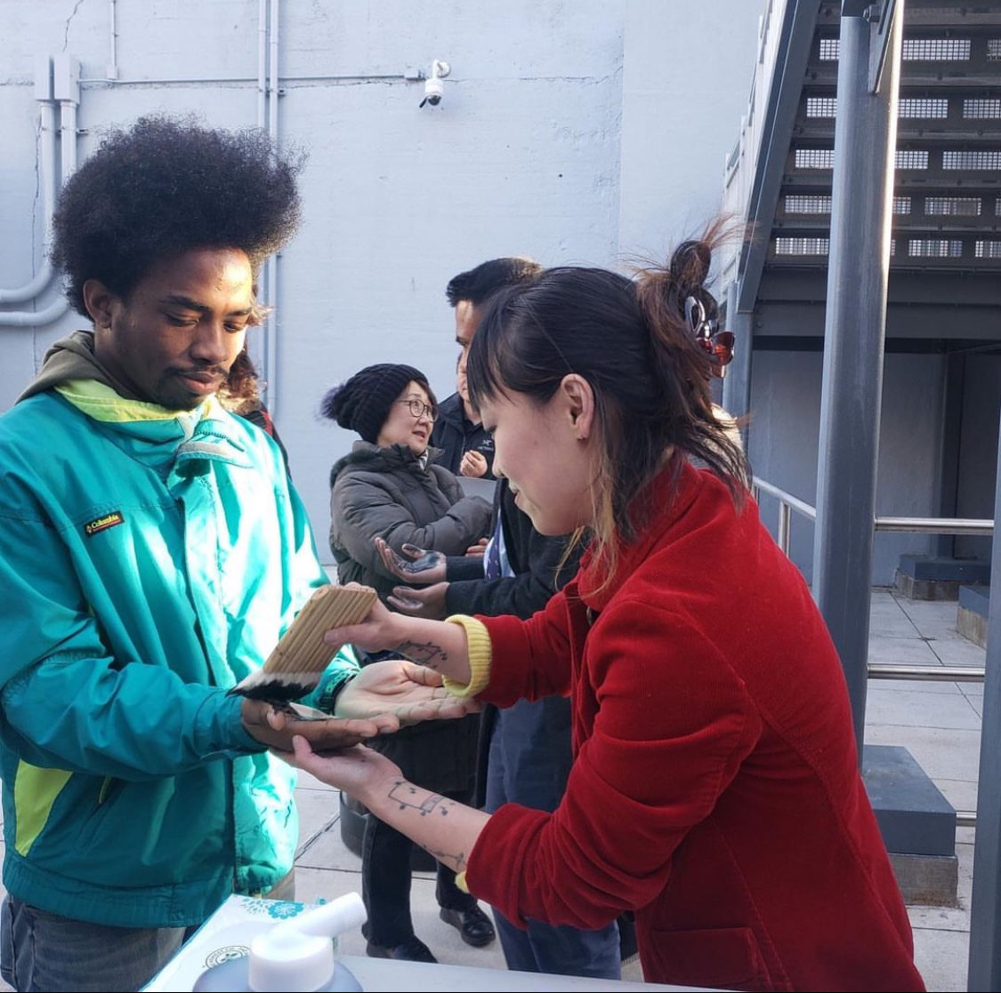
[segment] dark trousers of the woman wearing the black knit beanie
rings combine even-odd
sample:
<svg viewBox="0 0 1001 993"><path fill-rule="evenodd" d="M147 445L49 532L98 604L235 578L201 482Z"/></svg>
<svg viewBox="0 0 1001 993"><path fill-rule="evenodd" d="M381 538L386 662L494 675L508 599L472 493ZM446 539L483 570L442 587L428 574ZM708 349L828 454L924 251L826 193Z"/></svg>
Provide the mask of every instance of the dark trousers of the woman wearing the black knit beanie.
<svg viewBox="0 0 1001 993"><path fill-rule="evenodd" d="M456 799L452 797L452 799ZM413 936L410 919L410 853L413 842L372 814L365 815L361 848L361 899L368 920L364 936L375 945L401 945ZM475 900L455 885L455 873L437 863L438 906L468 910Z"/></svg>

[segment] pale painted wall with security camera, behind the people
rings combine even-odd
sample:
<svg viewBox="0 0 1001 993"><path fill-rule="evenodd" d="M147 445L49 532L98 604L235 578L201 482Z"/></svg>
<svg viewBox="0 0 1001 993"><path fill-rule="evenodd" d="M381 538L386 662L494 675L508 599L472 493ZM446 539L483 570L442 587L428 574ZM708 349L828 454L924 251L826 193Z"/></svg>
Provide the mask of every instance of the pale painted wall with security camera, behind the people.
<svg viewBox="0 0 1001 993"><path fill-rule="evenodd" d="M279 138L308 153L304 223L278 263L271 402L327 556L330 463L351 437L323 391L405 361L452 390L448 279L495 255L616 265L719 209L763 0L283 0ZM117 19L116 82L108 76ZM81 158L149 112L257 123L256 0L2 0L0 287L43 258L39 56L80 60ZM418 109L407 67L450 63ZM205 82L206 80L225 80ZM167 82L164 82L167 81ZM188 81L188 82L185 82ZM42 309L51 289L29 304ZM82 320L0 326L0 410Z"/></svg>

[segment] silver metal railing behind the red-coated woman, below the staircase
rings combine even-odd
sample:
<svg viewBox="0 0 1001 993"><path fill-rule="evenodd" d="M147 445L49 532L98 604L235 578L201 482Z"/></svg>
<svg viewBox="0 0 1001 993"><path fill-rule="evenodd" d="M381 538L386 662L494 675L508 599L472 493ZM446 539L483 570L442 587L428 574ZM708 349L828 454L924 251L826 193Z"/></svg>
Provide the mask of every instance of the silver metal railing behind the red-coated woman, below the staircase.
<svg viewBox="0 0 1001 993"><path fill-rule="evenodd" d="M789 535L795 510L807 520L817 520L817 508L804 503L778 486L764 479L756 479L751 492L759 503L761 494L768 493L779 501L779 547L789 554ZM989 519L964 517L877 517L873 521L875 531L909 532L912 534L965 534L993 535L994 522ZM936 665L880 665L870 663L870 679L911 679L935 680L948 683L982 683L983 666L936 666ZM973 810L956 811L957 827L976 827L977 815Z"/></svg>

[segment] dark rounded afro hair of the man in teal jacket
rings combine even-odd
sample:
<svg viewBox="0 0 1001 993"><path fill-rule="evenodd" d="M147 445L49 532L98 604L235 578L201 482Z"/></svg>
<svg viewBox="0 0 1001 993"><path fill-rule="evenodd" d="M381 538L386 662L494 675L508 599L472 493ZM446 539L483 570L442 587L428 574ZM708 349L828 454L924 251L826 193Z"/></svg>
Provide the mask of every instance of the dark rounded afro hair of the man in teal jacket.
<svg viewBox="0 0 1001 993"><path fill-rule="evenodd" d="M256 274L294 234L301 156L261 131L142 117L111 132L70 177L53 218L53 264L85 317L83 284L127 299L162 259L195 248L241 249Z"/></svg>

